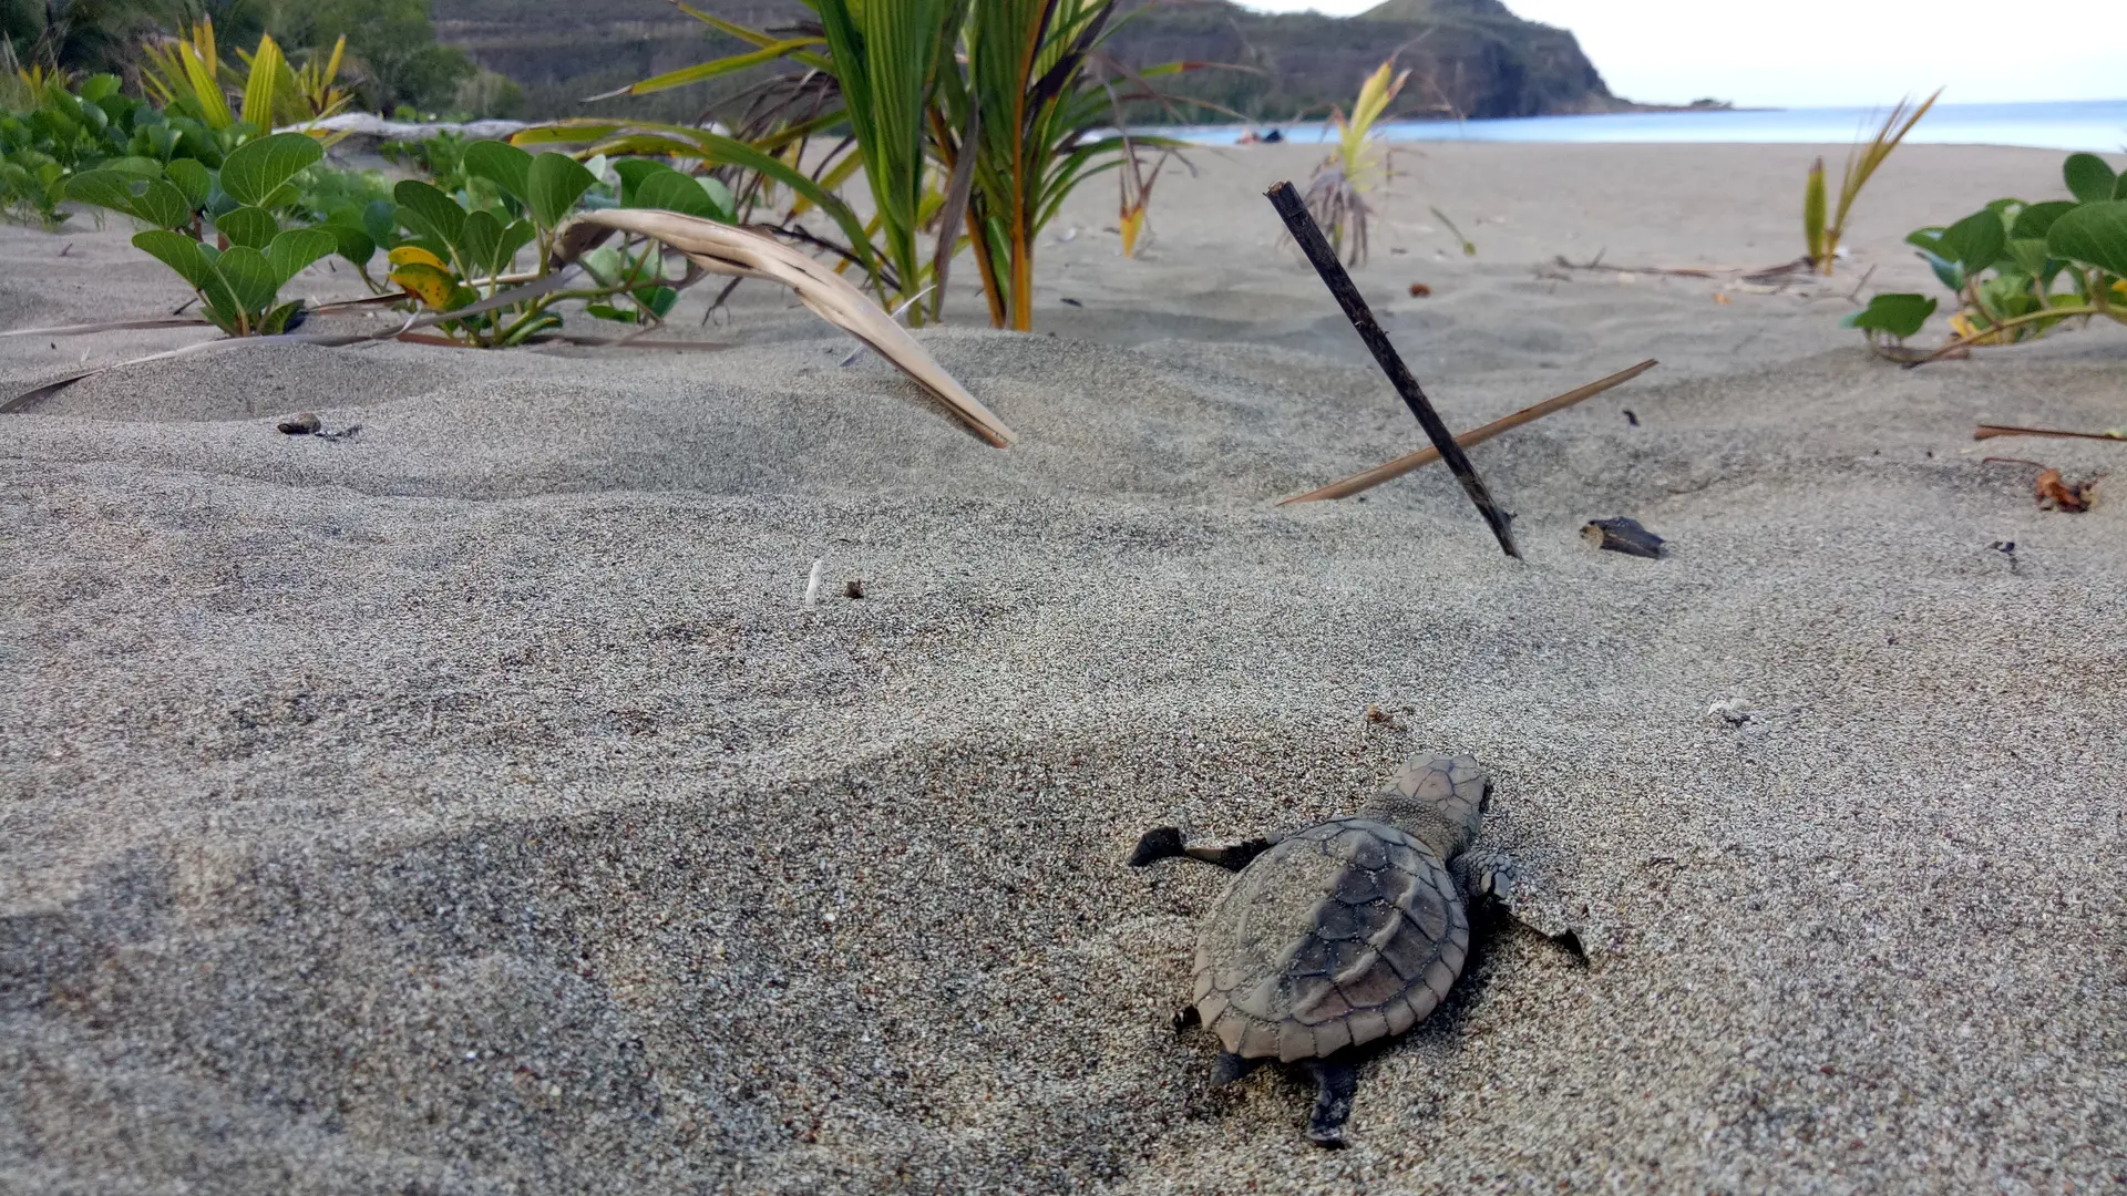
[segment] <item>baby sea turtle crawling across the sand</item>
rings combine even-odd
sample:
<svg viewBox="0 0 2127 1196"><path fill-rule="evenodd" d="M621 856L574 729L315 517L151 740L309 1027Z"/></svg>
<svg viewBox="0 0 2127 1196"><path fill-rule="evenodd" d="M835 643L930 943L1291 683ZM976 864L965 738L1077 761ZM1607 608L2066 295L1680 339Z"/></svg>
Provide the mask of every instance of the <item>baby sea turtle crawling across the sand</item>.
<svg viewBox="0 0 2127 1196"><path fill-rule="evenodd" d="M1468 902L1493 877L1455 864L1489 802L1476 760L1414 755L1357 815L1306 830L1229 845L1144 832L1132 866L1187 856L1238 873L1198 928L1193 1013L1223 1047L1212 1085L1268 1060L1304 1064L1308 1139L1344 1145L1351 1047L1423 1021L1470 956Z"/></svg>

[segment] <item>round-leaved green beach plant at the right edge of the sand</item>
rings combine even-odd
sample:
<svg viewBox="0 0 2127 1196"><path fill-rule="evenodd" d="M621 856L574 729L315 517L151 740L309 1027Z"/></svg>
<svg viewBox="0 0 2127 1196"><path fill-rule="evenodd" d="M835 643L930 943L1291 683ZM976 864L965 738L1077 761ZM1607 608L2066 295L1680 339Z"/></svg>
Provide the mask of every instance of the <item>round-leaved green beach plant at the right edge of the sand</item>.
<svg viewBox="0 0 2127 1196"><path fill-rule="evenodd" d="M1955 338L1929 358L2038 338L2070 319L2127 323L2127 177L2095 153L2070 155L2061 175L2072 200L1995 200L1906 236L1959 298ZM1880 294L1844 323L1874 345L1912 336L1933 311L1933 298Z"/></svg>

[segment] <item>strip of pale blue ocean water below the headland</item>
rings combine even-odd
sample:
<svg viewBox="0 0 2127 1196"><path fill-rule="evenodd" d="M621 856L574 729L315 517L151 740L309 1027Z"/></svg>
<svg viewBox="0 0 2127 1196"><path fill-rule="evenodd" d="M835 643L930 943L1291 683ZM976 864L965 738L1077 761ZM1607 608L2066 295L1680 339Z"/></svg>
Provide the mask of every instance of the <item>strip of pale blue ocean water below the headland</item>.
<svg viewBox="0 0 2127 1196"><path fill-rule="evenodd" d="M1619 140L1619 143L1806 143L1846 145L1882 128L1889 109L1765 109L1697 113L1610 113L1600 117L1521 117L1500 121L1391 121L1389 140ZM1314 143L1325 123L1283 128L1287 140ZM1244 126L1161 130L1202 145L1234 145ZM1906 138L1933 145L2027 145L2127 153L2127 100L2038 104L1936 104Z"/></svg>

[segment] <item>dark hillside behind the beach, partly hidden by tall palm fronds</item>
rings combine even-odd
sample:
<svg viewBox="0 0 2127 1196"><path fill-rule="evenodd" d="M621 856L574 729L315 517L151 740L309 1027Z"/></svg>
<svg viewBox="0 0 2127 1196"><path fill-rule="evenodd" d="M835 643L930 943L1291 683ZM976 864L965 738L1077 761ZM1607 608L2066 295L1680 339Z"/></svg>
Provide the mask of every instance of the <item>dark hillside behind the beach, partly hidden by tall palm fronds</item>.
<svg viewBox="0 0 2127 1196"><path fill-rule="evenodd" d="M740 23L774 26L806 15L795 0L700 0ZM525 89L527 115L583 113L579 100L664 70L734 53L723 38L664 0L579 4L536 0L436 0L436 32L481 66ZM1321 115L1349 102L1359 79L1397 53L1412 83L1406 115L1531 117L1623 106L1565 30L1523 21L1500 0L1389 0L1361 17L1266 15L1223 0L1146 4L1110 40L1129 66L1232 64L1198 70L1170 89L1259 121ZM742 85L723 79L600 111L693 117ZM1185 119L1229 119L1187 106ZM1146 111L1142 119L1168 119Z"/></svg>

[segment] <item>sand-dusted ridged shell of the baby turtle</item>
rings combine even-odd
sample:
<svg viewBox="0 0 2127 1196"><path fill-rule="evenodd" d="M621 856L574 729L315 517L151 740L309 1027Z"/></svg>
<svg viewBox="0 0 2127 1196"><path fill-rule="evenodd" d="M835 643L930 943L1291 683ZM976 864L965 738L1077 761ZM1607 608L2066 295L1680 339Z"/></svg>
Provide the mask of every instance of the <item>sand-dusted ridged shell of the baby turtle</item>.
<svg viewBox="0 0 2127 1196"><path fill-rule="evenodd" d="M1236 1056L1327 1056L1423 1021L1468 953L1446 864L1393 826L1342 817L1234 877L1198 932L1195 1007Z"/></svg>

